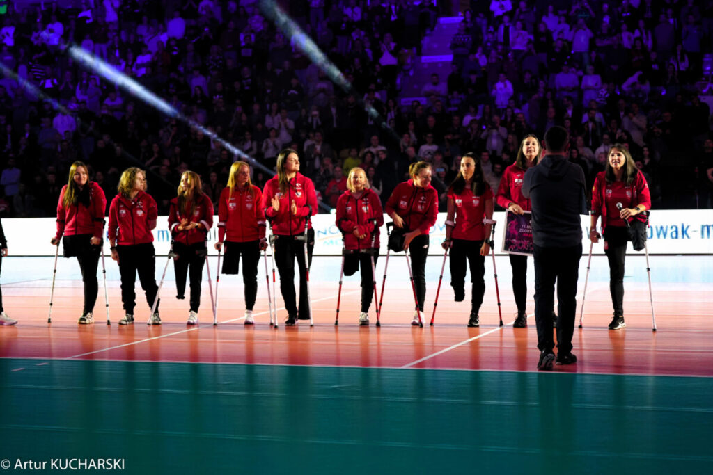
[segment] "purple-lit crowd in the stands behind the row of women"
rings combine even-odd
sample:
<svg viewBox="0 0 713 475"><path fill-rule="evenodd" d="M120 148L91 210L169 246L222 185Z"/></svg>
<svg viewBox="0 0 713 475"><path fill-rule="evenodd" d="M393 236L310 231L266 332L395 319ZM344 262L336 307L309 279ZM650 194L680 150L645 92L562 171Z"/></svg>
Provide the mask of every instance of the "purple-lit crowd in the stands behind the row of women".
<svg viewBox="0 0 713 475"><path fill-rule="evenodd" d="M0 15L0 216L53 216L75 160L110 199L125 167L146 169L165 214L183 171L198 172L217 202L238 159L73 61L66 45L250 155L262 165L252 177L260 187L279 150L298 150L324 210L352 167L385 201L417 160L433 164L444 204L466 152L478 153L497 189L521 138L552 125L570 131L570 160L590 182L620 142L645 173L653 207L713 207L712 0L277 2L349 92L258 3L9 4ZM441 16L462 19L451 69L404 104L401 88Z"/></svg>

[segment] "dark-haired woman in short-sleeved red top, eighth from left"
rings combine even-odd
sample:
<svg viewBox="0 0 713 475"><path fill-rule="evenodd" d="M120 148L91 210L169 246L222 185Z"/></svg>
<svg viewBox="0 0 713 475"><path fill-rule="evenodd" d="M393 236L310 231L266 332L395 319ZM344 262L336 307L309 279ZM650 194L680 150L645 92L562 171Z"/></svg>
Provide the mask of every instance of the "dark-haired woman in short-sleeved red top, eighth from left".
<svg viewBox="0 0 713 475"><path fill-rule="evenodd" d="M451 286L456 302L466 298L466 260L471 268L471 318L469 327L480 326L478 311L486 292L485 256L490 253L488 236L493 219L493 192L483 177L483 168L475 154L461 158L461 170L448 188L446 241L443 249L451 248Z"/></svg>

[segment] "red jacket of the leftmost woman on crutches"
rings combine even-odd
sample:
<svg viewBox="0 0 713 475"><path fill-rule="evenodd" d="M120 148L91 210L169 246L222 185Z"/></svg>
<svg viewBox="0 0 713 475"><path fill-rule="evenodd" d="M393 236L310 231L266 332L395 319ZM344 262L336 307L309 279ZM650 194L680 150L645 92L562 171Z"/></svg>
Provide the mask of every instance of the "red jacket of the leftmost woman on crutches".
<svg viewBox="0 0 713 475"><path fill-rule="evenodd" d="M88 182L89 187L89 206L86 207L83 203L70 204L65 208L62 200L67 185L62 187L59 193L59 202L57 203L57 234L56 239L75 234L92 234L94 237L101 239L101 234L104 229L104 210L106 209L106 196L104 190L95 182Z"/></svg>

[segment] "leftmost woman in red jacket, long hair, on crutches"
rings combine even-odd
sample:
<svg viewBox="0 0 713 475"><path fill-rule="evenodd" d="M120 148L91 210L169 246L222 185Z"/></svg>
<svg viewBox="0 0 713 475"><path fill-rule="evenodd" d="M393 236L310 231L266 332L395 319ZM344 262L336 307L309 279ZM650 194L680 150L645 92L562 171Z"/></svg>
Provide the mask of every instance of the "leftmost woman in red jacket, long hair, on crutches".
<svg viewBox="0 0 713 475"><path fill-rule="evenodd" d="M57 234L51 243L62 239L65 257L76 257L84 281L84 307L80 325L94 323L94 304L99 291L96 269L101 254L106 196L96 182L89 181L83 162L69 168L69 181L62 187L57 204ZM62 237L64 236L64 237Z"/></svg>

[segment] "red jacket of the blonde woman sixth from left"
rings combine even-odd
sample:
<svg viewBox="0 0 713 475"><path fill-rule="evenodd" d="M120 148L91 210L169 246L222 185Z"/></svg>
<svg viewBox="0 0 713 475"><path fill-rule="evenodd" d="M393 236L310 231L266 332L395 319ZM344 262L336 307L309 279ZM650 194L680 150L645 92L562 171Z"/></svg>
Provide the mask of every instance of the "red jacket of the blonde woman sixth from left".
<svg viewBox="0 0 713 475"><path fill-rule="evenodd" d="M371 249L371 233L376 233L374 247L379 249L379 228L384 224L384 211L379 196L371 189L365 189L358 200L347 190L337 201L337 228L344 234L344 247ZM354 229L366 234L364 239L354 236Z"/></svg>

